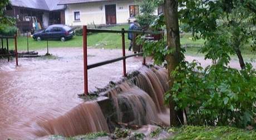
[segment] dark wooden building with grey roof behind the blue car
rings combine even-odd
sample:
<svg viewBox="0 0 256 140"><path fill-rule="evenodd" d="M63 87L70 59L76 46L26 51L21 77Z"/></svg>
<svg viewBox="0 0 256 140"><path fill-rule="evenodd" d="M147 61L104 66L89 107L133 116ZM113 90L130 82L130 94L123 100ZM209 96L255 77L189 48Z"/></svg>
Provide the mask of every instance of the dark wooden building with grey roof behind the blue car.
<svg viewBox="0 0 256 140"><path fill-rule="evenodd" d="M10 0L5 14L16 18L19 32L47 28L51 24L65 24L65 6L59 0Z"/></svg>

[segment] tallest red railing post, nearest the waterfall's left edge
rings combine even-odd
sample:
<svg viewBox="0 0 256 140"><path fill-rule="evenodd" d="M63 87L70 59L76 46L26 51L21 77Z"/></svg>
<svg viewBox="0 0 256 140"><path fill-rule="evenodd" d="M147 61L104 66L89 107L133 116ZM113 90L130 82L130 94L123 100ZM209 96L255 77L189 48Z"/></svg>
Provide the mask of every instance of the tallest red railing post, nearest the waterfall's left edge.
<svg viewBox="0 0 256 140"><path fill-rule="evenodd" d="M87 26L83 26L83 81L84 93L88 95Z"/></svg>

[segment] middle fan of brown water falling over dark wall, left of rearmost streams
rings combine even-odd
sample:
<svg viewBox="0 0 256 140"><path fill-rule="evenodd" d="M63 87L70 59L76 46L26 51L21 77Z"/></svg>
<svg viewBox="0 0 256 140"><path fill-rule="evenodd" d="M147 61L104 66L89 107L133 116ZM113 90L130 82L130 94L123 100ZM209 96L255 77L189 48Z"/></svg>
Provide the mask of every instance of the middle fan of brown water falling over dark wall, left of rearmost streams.
<svg viewBox="0 0 256 140"><path fill-rule="evenodd" d="M121 84L123 90L120 93L111 92L116 106L117 119L119 123L142 126L159 122L157 109L151 97L136 86Z"/></svg>

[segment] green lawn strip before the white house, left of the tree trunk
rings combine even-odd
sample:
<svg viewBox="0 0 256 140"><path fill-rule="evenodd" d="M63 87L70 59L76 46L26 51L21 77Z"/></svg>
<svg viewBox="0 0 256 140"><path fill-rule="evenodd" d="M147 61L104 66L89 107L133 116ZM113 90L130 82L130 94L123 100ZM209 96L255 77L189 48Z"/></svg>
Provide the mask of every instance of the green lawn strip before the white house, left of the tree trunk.
<svg viewBox="0 0 256 140"><path fill-rule="evenodd" d="M122 26L115 26L109 27L108 29L119 29L121 28L128 29L129 25L122 25ZM91 34L87 38L88 46L95 47L95 48L121 48L122 47L122 37L121 34L116 33L96 33ZM33 38L29 37L29 50L35 51L37 49L43 49L47 47L46 41L35 41ZM68 41L61 42L61 41L48 41L49 47L82 47L82 36L75 36ZM126 48L129 47L129 40L127 39L127 34L125 36L125 43ZM4 40L4 46L6 41ZM17 45L19 51L26 51L27 50L27 37L19 36L17 39ZM13 39L9 39L9 48L14 49Z"/></svg>

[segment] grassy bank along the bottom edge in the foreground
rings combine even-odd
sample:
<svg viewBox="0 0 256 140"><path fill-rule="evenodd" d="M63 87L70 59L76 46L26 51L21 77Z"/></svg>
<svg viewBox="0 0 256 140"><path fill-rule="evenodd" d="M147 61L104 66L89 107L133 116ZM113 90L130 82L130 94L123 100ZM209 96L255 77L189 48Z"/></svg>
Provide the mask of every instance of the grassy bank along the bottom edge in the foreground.
<svg viewBox="0 0 256 140"><path fill-rule="evenodd" d="M180 128L171 127L167 129L156 129L157 131L152 132L150 136L146 136L142 133L137 133L137 136L141 134L140 137L137 139L159 139L158 136L160 133L165 131L165 133L170 133L169 138L165 138L168 140L183 140L183 139L228 139L228 140L235 140L235 139L246 139L251 140L255 139L256 132L254 130L247 131L245 129L239 129L234 127L206 127L206 126L184 126ZM127 131L130 132L130 131ZM115 134L112 134L115 136ZM132 135L132 134L130 134ZM77 140L77 139L107 139L107 136L110 136L104 132L86 134L83 136L76 136L76 137L62 137L62 136L50 136L48 139L68 139L68 140ZM134 136L134 135L133 135ZM125 139L125 138L121 138ZM129 139L126 137L126 139Z"/></svg>

